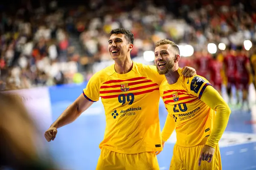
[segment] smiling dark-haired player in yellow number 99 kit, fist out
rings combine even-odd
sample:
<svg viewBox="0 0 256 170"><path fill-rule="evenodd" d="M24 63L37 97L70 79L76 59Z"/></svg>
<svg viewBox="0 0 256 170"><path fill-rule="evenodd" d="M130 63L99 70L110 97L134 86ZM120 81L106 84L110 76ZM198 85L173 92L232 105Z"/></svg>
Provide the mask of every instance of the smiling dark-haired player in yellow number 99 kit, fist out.
<svg viewBox="0 0 256 170"><path fill-rule="evenodd" d="M83 93L45 132L48 142L57 128L73 122L102 99L106 127L96 170L159 170L156 152L163 149L158 117L159 85L164 76L154 65L133 62L134 35L125 29L110 33L108 51L115 63L90 78ZM184 75L195 75L186 68Z"/></svg>

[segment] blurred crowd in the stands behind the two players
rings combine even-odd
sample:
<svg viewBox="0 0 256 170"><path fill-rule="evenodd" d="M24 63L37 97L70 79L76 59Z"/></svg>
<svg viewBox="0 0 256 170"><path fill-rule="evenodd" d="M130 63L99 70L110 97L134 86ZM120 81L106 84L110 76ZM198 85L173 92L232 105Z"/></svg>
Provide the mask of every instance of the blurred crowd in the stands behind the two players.
<svg viewBox="0 0 256 170"><path fill-rule="evenodd" d="M224 63L227 55L238 54L237 49L250 62L248 74L256 69L255 0L90 0L86 4L23 0L15 4L0 6L0 90L90 79L96 65L111 60L107 47L114 28L133 32L133 59L154 51L157 40L169 39L193 47L180 59L180 67L192 66L209 80L215 69L221 77L218 81L227 84L227 71L222 66L213 69L212 59ZM249 48L244 40L250 40ZM209 43L218 48L209 51Z"/></svg>

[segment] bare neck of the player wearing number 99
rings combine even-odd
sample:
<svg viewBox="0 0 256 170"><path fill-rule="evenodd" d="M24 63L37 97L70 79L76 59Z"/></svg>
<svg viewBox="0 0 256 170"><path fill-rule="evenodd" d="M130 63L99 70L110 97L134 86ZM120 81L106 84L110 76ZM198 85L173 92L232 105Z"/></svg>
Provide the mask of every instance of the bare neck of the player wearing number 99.
<svg viewBox="0 0 256 170"><path fill-rule="evenodd" d="M115 71L118 74L126 74L131 71L133 62L131 58L127 58L123 61L115 61Z"/></svg>

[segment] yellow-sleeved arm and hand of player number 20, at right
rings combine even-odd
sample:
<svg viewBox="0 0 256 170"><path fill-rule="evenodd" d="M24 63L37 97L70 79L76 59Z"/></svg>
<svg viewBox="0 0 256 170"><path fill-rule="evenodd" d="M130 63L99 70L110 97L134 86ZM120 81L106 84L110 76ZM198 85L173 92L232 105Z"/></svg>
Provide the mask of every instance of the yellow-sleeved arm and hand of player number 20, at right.
<svg viewBox="0 0 256 170"><path fill-rule="evenodd" d="M213 123L212 132L201 150L199 156L198 165L201 165L201 161L212 161L214 156L215 146L221 139L224 130L227 127L227 122L230 116L230 108L221 95L212 86L208 85L204 90L201 100L208 105L211 109L216 111L215 121Z"/></svg>

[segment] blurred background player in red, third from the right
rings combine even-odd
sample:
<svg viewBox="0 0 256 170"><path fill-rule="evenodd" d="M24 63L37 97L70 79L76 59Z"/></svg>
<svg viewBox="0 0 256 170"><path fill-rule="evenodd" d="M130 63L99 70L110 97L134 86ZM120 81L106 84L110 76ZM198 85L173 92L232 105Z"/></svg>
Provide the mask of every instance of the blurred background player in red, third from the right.
<svg viewBox="0 0 256 170"><path fill-rule="evenodd" d="M221 77L221 69L223 68L223 64L221 61L217 59L217 54L212 55L212 59L209 64L210 70L210 82L213 87L221 94L221 85L222 85L222 77Z"/></svg>

